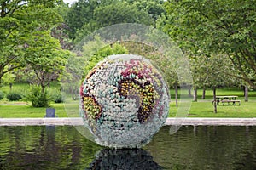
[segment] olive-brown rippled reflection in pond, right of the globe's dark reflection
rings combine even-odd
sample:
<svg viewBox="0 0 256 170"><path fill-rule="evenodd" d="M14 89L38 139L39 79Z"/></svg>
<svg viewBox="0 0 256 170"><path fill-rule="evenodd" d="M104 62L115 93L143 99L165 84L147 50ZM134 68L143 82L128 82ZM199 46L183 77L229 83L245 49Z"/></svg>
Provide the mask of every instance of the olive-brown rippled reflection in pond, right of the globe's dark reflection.
<svg viewBox="0 0 256 170"><path fill-rule="evenodd" d="M161 128L143 149L164 169L256 169L256 127Z"/></svg>

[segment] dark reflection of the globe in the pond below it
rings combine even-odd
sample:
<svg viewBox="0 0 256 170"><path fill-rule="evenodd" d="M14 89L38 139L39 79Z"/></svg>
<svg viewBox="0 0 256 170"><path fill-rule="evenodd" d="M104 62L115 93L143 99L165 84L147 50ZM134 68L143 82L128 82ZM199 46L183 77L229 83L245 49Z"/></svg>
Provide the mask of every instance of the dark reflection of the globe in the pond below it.
<svg viewBox="0 0 256 170"><path fill-rule="evenodd" d="M162 169L146 150L142 149L104 149L96 154L96 159L86 170L134 170Z"/></svg>

